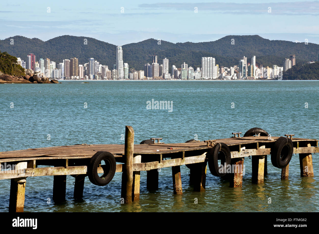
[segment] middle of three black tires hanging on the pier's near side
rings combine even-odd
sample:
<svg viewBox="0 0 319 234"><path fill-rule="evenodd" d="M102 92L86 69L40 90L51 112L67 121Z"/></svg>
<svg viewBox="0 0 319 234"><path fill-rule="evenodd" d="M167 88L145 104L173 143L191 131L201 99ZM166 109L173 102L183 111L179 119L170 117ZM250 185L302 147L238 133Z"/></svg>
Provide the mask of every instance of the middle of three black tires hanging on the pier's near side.
<svg viewBox="0 0 319 234"><path fill-rule="evenodd" d="M215 176L225 176L226 175L226 168L225 172L219 172L219 168L221 166L225 167L230 165L231 155L229 147L224 144L216 144L213 148L209 149L206 154L208 156L208 167L211 171L211 174ZM221 160L221 165L219 165L218 160Z"/></svg>

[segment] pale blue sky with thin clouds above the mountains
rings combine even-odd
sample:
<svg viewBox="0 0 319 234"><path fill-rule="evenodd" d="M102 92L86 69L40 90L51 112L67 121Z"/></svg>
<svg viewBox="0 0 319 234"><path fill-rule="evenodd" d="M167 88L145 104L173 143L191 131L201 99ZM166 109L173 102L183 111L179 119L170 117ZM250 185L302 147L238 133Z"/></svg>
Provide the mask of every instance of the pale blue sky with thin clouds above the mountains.
<svg viewBox="0 0 319 234"><path fill-rule="evenodd" d="M0 39L73 35L124 45L149 38L176 43L258 34L319 44L319 1L24 0L0 6Z"/></svg>

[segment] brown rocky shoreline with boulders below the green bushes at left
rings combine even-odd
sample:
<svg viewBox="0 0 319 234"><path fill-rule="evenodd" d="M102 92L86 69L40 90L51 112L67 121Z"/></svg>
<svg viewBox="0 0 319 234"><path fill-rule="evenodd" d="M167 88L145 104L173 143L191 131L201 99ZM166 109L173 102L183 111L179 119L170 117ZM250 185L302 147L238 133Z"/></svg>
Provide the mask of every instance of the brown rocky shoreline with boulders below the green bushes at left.
<svg viewBox="0 0 319 234"><path fill-rule="evenodd" d="M34 72L32 69L25 69L25 76L8 75L0 72L0 84L58 84L55 79L49 80L42 72Z"/></svg>

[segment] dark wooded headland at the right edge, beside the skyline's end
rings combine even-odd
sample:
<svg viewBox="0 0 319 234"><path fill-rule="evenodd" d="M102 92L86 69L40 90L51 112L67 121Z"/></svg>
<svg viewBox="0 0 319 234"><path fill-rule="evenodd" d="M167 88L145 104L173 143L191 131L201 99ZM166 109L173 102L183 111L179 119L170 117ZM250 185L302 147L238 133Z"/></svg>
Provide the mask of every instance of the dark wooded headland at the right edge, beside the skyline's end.
<svg viewBox="0 0 319 234"><path fill-rule="evenodd" d="M319 62L293 66L284 75L284 80L319 80Z"/></svg>

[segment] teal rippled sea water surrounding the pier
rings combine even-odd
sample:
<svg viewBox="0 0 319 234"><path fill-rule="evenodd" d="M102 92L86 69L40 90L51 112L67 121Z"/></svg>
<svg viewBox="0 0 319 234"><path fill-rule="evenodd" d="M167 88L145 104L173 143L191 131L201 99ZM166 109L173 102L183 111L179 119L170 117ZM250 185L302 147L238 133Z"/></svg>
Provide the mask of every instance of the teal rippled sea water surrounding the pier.
<svg viewBox="0 0 319 234"><path fill-rule="evenodd" d="M185 142L231 137L260 127L272 136L319 138L319 81L62 81L62 84L0 85L0 151L74 144L124 144L125 125L135 143L151 137ZM147 101L169 101L168 110L148 110ZM13 103L14 108L11 107ZM87 103L87 108L84 108ZM305 106L308 104L308 108ZM234 108L232 108L232 105ZM50 140L48 140L50 134ZM206 191L193 192L182 166L182 195L173 195L171 168L159 172L159 189L146 189L141 172L140 200L121 204L121 173L104 187L85 179L82 202L73 199L67 176L66 202L52 200L53 177L28 177L25 211L319 211L319 155L314 177L301 178L293 155L289 179L268 160L263 184L251 183L245 158L242 188L207 169ZM8 211L10 180L0 181L0 211ZM49 199L48 199L49 198ZM194 201L197 198L198 203ZM271 203L268 203L271 198ZM48 203L48 201L51 201Z"/></svg>

